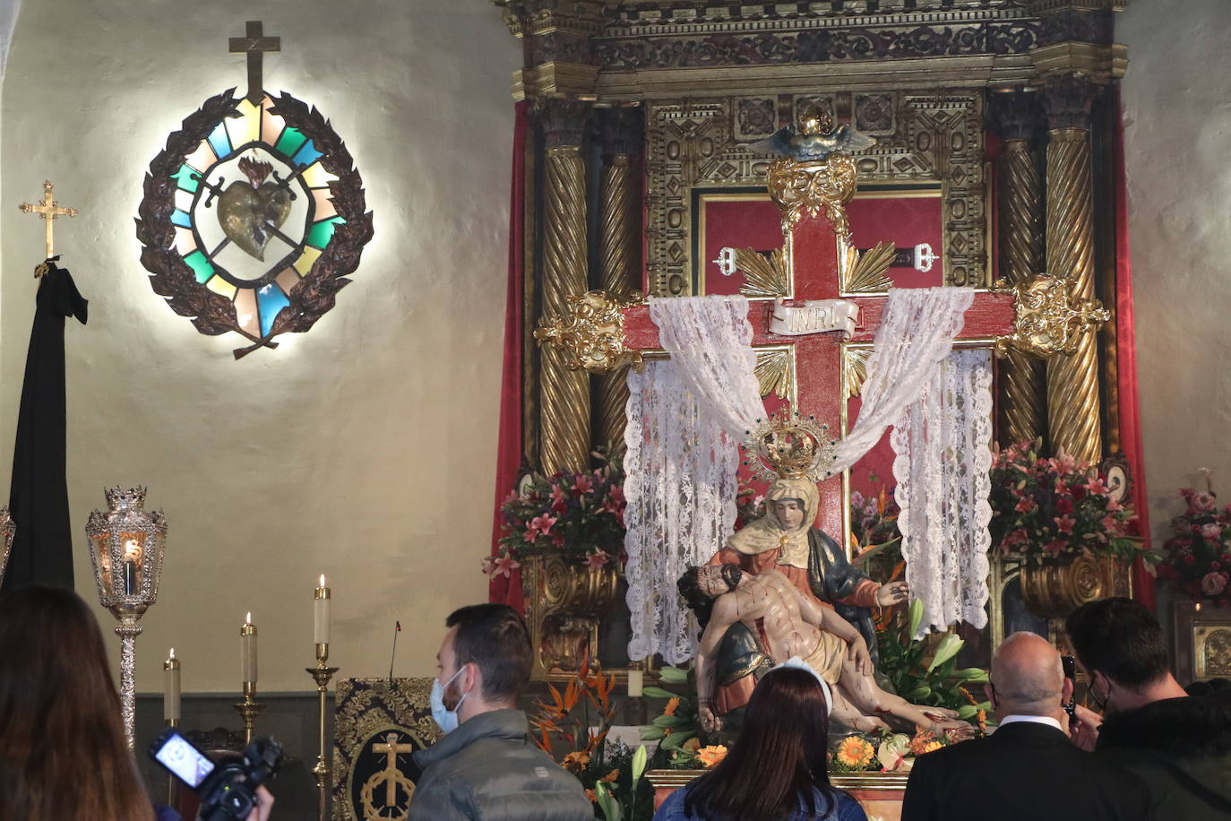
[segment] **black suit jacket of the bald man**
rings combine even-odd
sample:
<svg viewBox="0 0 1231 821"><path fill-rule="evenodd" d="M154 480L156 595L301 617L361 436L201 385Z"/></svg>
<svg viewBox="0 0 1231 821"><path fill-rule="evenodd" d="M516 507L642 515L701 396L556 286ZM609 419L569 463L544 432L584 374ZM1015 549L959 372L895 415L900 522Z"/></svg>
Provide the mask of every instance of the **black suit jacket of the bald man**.
<svg viewBox="0 0 1231 821"><path fill-rule="evenodd" d="M1055 727L1007 724L915 759L902 821L1136 821L1146 787Z"/></svg>

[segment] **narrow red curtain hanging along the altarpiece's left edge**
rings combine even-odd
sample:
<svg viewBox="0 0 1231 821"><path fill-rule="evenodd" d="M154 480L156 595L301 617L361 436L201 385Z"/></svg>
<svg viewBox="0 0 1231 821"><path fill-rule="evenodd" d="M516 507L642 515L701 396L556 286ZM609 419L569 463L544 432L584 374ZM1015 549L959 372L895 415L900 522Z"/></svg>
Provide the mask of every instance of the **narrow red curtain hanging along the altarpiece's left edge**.
<svg viewBox="0 0 1231 821"><path fill-rule="evenodd" d="M526 228L526 102L518 102L513 119L513 169L508 206L508 292L505 298L505 359L500 382L500 439L496 446L496 492L491 523L491 556L500 550L500 503L513 489L522 467L522 294L526 271L523 240ZM500 571L491 566L487 601L526 612L519 570Z"/></svg>

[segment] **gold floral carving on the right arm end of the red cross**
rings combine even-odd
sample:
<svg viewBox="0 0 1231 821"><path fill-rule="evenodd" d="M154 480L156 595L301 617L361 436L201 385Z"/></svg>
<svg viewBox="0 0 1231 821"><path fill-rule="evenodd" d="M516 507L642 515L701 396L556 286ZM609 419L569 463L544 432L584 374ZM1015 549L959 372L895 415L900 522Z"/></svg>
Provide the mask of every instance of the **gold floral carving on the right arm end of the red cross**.
<svg viewBox="0 0 1231 821"><path fill-rule="evenodd" d="M1089 331L1109 319L1099 300L1073 297L1069 281L1050 273L997 290L1012 293L1017 304L1013 332L996 340L998 357L1011 350L1040 359L1072 356Z"/></svg>

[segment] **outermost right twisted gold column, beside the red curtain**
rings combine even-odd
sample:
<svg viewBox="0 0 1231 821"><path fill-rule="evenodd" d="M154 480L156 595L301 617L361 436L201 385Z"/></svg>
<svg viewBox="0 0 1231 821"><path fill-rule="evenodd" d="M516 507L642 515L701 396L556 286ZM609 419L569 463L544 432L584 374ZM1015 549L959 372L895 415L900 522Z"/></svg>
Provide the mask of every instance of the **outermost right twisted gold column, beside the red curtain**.
<svg viewBox="0 0 1231 821"><path fill-rule="evenodd" d="M1080 299L1094 298L1089 108L1097 89L1082 78L1062 76L1049 80L1043 92L1050 128L1046 265ZM1094 334L1085 334L1072 356L1048 362L1048 432L1053 452L1091 462L1103 457Z"/></svg>

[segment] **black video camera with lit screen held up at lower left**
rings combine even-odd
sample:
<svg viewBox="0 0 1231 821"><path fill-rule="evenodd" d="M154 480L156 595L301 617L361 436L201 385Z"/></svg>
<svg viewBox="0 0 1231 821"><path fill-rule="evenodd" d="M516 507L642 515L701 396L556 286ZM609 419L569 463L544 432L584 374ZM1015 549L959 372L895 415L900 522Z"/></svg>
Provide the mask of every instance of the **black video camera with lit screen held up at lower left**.
<svg viewBox="0 0 1231 821"><path fill-rule="evenodd" d="M150 745L150 758L191 787L201 798L201 821L246 819L256 804L256 788L273 778L282 764L282 745L254 739L243 761L214 763L204 752L167 727Z"/></svg>

